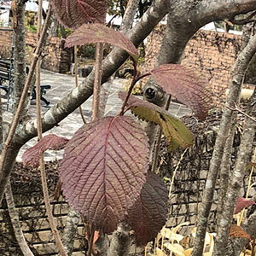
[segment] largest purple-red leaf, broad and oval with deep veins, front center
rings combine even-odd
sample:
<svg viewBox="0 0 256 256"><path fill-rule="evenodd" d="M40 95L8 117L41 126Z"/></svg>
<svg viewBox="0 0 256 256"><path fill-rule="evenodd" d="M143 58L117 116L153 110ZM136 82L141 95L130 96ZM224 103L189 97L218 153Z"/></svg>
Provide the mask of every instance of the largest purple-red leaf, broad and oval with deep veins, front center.
<svg viewBox="0 0 256 256"><path fill-rule="evenodd" d="M137 200L148 171L148 138L130 117L82 126L67 143L59 171L63 195L105 233Z"/></svg>

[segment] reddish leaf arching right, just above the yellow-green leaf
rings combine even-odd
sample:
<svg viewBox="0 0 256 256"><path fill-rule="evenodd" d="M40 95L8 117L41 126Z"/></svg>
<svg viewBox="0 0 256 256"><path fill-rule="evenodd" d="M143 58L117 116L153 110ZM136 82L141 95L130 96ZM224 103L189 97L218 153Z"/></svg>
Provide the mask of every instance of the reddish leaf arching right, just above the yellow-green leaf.
<svg viewBox="0 0 256 256"><path fill-rule="evenodd" d="M212 103L212 93L207 83L189 67L179 64L166 64L150 71L155 81L166 93L183 102L200 119L205 119Z"/></svg>

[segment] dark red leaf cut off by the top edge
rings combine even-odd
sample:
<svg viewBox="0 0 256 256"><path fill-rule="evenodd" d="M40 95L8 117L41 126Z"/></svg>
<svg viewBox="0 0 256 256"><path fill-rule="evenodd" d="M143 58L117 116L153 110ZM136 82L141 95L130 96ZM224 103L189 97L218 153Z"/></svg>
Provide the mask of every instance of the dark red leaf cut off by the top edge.
<svg viewBox="0 0 256 256"><path fill-rule="evenodd" d="M51 0L56 18L62 25L75 29L90 22L104 23L107 0Z"/></svg>

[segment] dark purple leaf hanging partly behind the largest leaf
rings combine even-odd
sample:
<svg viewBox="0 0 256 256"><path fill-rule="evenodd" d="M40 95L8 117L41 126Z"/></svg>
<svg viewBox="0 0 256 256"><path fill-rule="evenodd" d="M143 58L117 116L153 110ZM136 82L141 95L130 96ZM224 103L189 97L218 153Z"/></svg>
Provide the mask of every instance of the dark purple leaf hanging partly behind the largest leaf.
<svg viewBox="0 0 256 256"><path fill-rule="evenodd" d="M168 190L153 172L148 172L141 195L128 212L128 223L135 230L137 246L152 241L164 224L168 213Z"/></svg>

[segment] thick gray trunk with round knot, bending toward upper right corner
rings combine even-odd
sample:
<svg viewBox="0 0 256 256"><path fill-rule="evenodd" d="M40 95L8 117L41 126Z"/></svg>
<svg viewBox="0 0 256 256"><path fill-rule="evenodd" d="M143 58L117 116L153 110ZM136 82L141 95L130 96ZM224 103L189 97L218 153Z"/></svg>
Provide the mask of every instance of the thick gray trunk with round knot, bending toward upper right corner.
<svg viewBox="0 0 256 256"><path fill-rule="evenodd" d="M170 11L167 17L167 26L160 47L160 52L155 66L166 63L179 63L181 61L183 50L189 39L198 31L201 26L214 20L229 19L234 15L242 12L248 12L256 9L255 1L231 1L231 0L183 0L172 1ZM158 88L153 79L149 79L144 87L145 92L151 88ZM155 89L155 95L159 89ZM163 97L161 99L152 98L151 102L157 105L164 104ZM149 125L148 125L149 126ZM152 126L152 125L151 125ZM147 127L147 125L146 125ZM147 127L149 131L148 137L154 142L156 134L154 127Z"/></svg>

